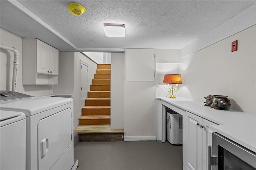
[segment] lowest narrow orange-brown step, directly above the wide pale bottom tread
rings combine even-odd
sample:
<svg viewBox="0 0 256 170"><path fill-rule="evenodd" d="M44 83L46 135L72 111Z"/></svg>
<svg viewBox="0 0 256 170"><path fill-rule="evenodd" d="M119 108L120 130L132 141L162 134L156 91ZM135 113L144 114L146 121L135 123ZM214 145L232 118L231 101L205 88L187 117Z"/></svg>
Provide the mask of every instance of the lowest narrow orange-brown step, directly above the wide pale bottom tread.
<svg viewBox="0 0 256 170"><path fill-rule="evenodd" d="M82 115L79 125L104 125L110 124L110 115Z"/></svg>

